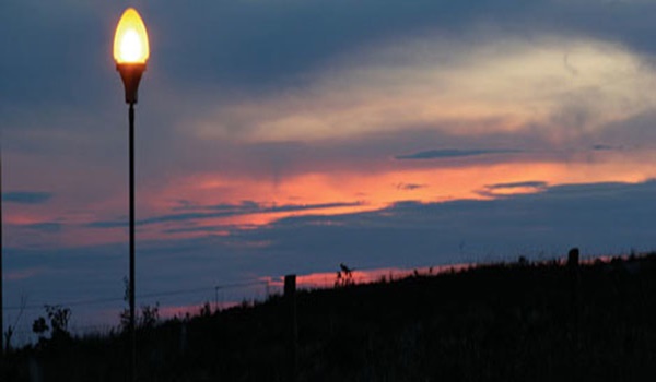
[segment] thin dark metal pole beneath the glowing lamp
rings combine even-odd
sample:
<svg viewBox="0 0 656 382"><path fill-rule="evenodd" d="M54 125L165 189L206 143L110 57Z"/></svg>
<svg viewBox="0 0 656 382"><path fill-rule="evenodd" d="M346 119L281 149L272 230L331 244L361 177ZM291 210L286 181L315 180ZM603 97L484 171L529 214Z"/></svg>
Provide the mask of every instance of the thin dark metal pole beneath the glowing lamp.
<svg viewBox="0 0 656 382"><path fill-rule="evenodd" d="M137 381L137 331L134 325L134 103L130 103L130 379Z"/></svg>

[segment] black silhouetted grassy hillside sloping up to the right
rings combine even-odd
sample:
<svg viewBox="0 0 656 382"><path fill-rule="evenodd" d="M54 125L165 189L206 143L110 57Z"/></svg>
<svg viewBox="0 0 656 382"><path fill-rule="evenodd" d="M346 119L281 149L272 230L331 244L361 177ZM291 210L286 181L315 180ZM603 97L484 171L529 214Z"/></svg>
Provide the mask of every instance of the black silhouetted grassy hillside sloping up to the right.
<svg viewBox="0 0 656 382"><path fill-rule="evenodd" d="M297 379L652 380L656 255L570 259L300 290ZM272 296L141 327L139 381L286 381L289 311ZM124 381L127 345L116 331L28 346L9 354L1 380Z"/></svg>

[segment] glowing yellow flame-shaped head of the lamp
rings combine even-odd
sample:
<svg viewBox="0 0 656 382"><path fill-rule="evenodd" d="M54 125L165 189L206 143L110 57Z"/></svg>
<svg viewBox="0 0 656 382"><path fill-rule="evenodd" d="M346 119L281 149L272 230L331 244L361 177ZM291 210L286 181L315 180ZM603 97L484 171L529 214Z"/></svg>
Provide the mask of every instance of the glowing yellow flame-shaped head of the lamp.
<svg viewBox="0 0 656 382"><path fill-rule="evenodd" d="M114 35L114 59L117 64L144 64L150 56L148 34L143 20L133 8L128 8L116 27Z"/></svg>

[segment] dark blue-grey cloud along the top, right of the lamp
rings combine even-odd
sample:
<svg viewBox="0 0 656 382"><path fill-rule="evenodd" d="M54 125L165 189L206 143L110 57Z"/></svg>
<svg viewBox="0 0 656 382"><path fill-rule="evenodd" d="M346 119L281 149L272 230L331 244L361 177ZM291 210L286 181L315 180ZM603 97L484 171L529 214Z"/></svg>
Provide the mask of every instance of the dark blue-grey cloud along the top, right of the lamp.
<svg viewBox="0 0 656 382"><path fill-rule="evenodd" d="M276 84L295 85L303 81L298 73L324 67L336 56L425 31L472 39L508 32L531 37L562 33L654 47L644 31L649 31L655 5L646 1L419 0L403 7L395 1L313 0L144 7L145 15L152 13L147 23L166 41L160 49L166 74L201 87L236 83L276 93ZM582 16L590 9L594 16ZM180 33L180 23L196 27Z"/></svg>

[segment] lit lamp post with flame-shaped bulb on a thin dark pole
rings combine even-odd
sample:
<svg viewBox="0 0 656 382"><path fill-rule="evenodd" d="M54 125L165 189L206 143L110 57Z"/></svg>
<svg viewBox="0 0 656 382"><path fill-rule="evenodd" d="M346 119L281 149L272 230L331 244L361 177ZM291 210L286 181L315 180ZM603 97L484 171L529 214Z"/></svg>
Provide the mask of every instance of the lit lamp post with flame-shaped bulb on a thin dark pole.
<svg viewBox="0 0 656 382"><path fill-rule="evenodd" d="M129 108L129 156L130 156L130 278L128 295L130 302L130 342L131 354L129 373L132 381L137 374L137 333L134 325L134 104L139 81L145 71L145 61L150 56L148 34L143 20L133 8L128 8L116 27L114 36L114 59L120 73L125 91L126 104Z"/></svg>

